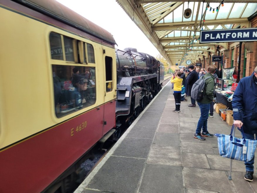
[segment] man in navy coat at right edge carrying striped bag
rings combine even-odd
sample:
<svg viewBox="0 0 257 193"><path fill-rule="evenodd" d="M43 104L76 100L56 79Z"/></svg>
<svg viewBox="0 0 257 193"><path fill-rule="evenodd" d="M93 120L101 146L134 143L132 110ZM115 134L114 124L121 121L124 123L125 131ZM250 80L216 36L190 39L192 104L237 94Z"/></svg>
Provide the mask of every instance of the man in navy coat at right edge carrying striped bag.
<svg viewBox="0 0 257 193"><path fill-rule="evenodd" d="M251 76L242 78L232 100L234 125L244 130L245 139L254 140L257 135L257 66ZM243 127L242 127L243 126ZM244 179L253 181L254 157L245 162Z"/></svg>

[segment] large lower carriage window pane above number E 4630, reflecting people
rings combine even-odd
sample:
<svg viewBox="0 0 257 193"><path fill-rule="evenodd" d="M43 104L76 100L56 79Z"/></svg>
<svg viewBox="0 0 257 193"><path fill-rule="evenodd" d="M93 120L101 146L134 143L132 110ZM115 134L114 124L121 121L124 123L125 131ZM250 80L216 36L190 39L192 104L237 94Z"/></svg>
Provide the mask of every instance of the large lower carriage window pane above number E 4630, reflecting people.
<svg viewBox="0 0 257 193"><path fill-rule="evenodd" d="M56 117L60 118L95 104L94 67L52 65L52 71Z"/></svg>

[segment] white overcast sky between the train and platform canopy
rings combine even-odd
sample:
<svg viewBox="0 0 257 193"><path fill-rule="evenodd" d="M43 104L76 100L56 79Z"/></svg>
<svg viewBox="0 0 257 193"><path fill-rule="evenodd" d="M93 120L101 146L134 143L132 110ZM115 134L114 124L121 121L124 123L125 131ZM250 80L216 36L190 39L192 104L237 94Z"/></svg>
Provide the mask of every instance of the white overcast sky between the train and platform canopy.
<svg viewBox="0 0 257 193"><path fill-rule="evenodd" d="M116 48L137 48L156 57L159 52L115 0L57 0L73 11L109 31Z"/></svg>

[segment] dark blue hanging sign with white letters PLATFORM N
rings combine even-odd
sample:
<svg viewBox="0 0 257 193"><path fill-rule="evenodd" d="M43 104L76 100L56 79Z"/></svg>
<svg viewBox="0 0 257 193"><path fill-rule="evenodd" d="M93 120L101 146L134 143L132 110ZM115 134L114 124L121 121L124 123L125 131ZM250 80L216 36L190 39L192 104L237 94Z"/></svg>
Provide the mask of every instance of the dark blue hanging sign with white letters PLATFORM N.
<svg viewBox="0 0 257 193"><path fill-rule="evenodd" d="M200 31L200 43L257 41L257 28Z"/></svg>

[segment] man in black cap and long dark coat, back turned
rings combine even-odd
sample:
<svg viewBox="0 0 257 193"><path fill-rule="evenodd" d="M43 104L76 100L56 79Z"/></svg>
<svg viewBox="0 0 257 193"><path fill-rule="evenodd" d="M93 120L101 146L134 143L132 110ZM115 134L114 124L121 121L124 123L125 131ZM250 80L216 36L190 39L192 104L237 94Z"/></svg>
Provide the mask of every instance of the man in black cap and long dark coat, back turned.
<svg viewBox="0 0 257 193"><path fill-rule="evenodd" d="M191 90L193 87L193 84L198 80L198 74L195 71L195 67L194 66L189 66L188 67L190 74L187 76L187 95L191 96ZM195 99L191 98L191 104L188 105L189 107L195 107Z"/></svg>

